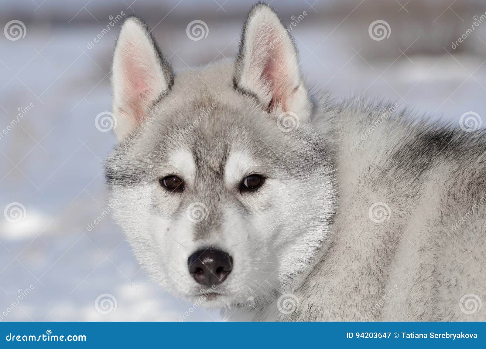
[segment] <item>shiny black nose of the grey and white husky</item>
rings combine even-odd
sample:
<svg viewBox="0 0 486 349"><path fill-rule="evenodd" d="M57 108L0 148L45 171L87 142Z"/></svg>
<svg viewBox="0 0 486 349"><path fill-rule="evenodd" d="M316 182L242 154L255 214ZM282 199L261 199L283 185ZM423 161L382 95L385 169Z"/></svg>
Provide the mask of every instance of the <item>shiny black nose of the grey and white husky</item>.
<svg viewBox="0 0 486 349"><path fill-rule="evenodd" d="M189 257L188 264L198 283L212 286L225 281L233 267L233 258L219 249L201 249Z"/></svg>

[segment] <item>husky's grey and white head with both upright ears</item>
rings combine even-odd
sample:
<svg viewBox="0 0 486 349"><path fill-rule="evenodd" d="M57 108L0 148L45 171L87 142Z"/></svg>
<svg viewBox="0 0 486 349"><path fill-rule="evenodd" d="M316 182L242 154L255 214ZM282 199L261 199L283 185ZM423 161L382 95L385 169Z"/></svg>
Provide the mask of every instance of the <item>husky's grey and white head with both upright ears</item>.
<svg viewBox="0 0 486 349"><path fill-rule="evenodd" d="M273 10L252 8L233 62L177 74L130 17L112 80L118 144L106 178L151 277L208 307L289 291L322 248L335 189L294 42Z"/></svg>

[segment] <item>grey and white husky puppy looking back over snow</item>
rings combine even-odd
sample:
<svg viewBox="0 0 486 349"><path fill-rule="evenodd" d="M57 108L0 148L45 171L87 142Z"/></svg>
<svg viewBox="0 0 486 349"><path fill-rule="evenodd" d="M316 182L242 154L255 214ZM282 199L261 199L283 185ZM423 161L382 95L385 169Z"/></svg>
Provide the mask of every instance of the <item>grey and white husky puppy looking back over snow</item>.
<svg viewBox="0 0 486 349"><path fill-rule="evenodd" d="M108 188L166 290L233 320L486 319L484 131L311 94L262 3L233 62L177 73L127 18L112 80Z"/></svg>

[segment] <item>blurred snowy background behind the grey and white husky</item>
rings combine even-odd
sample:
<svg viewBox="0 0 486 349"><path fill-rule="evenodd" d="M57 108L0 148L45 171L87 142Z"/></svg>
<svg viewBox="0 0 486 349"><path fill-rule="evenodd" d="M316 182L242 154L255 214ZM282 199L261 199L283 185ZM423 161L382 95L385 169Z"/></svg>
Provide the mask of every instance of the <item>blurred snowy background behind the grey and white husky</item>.
<svg viewBox="0 0 486 349"><path fill-rule="evenodd" d="M137 264L109 213L103 160L115 139L100 118L124 17L142 17L186 69L230 59L252 3L1 0L1 321L220 319ZM379 96L452 122L485 115L484 0L271 5L292 27L309 82L335 99Z"/></svg>

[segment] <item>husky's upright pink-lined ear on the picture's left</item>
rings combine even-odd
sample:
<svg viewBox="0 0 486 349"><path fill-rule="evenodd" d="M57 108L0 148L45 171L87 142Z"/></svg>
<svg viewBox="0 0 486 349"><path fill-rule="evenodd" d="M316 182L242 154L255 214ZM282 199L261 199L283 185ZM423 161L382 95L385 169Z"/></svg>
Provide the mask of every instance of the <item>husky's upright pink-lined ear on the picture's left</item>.
<svg viewBox="0 0 486 349"><path fill-rule="evenodd" d="M170 90L174 71L138 17L128 17L121 26L112 71L114 132L120 140L146 118L147 108Z"/></svg>

